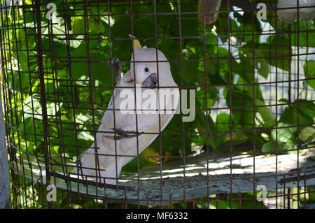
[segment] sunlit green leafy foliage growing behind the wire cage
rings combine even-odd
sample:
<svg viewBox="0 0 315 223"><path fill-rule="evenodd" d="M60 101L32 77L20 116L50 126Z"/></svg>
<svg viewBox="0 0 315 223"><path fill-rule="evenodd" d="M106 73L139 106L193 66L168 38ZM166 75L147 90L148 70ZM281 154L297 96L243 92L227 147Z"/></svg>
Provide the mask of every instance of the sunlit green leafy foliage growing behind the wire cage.
<svg viewBox="0 0 315 223"><path fill-rule="evenodd" d="M215 24L204 29L193 13L173 15L179 11L175 0L167 3L157 1L158 13L171 14L156 17L139 15L153 13L153 1L141 1L132 8L128 4L113 3L110 13L114 16L106 16L108 8L104 5L100 7L90 3L84 10L72 5L72 1L68 1L69 4L62 2L55 1L57 8L67 11L60 12L58 24L47 20L44 13L47 9L41 6L43 35L40 43L43 47L52 154L73 158L92 145L94 133L115 85L114 72L105 62L110 57L130 61L132 44L128 39L129 34L137 36L142 45L158 46L165 53L171 61L174 80L179 85L196 86L197 108L211 109L223 104L230 109L230 113L216 113L215 109L208 113L197 110L195 121L185 124L181 122L181 115L176 115L165 132L197 131L200 134L159 136L162 139L158 138L152 145L155 154L189 155L195 152L192 145L204 150L210 148L211 152L216 153L226 152L230 145L243 145L239 152L246 152L248 146L244 145L253 141L257 143L256 152L285 152L296 149L299 141L314 142L314 102L298 97L292 101L288 98L278 99L273 104L284 101L288 106L283 107L283 113L275 113L269 106L270 101L267 101L267 92L260 84L261 80L266 81L270 75L274 75L271 72L274 67L282 72L290 70L293 47L315 46L314 41L309 41L314 40L314 32L307 31L314 29L314 22L301 20L289 27L274 19L271 13L268 13L267 20L260 22L255 14L246 11L243 15L232 13L230 17L227 13L221 13ZM29 0L25 3L31 5ZM226 9L225 6L221 8ZM21 150L43 154L43 95L36 60L37 23L31 13L35 8L31 6L17 10L19 13L15 13L16 10L3 11L2 16L5 15L6 19L1 21L7 22L1 27L22 28L1 29L3 48L20 49L1 50L3 62L8 68L3 80L7 86L4 89L6 100L9 100L6 102L10 109L20 111L17 115L7 116L8 123L16 124L20 131L10 129L8 134ZM190 1L181 1L180 10L191 12ZM131 17L128 13L134 15ZM99 16L83 16L86 14ZM263 34L266 24L270 24L278 34L269 35L267 40L252 35ZM301 33L288 34L297 30ZM234 37L229 38L231 35ZM158 40L155 41L155 38ZM228 43L232 53L228 50ZM304 74L307 80L301 81L303 86L313 89L314 64L314 60L305 60ZM123 64L124 71L128 67L128 63ZM297 127L297 124L302 126ZM256 129L259 134L253 134L251 129ZM262 134L265 136L262 137ZM135 171L138 162L141 167L152 160L134 159L124 170Z"/></svg>

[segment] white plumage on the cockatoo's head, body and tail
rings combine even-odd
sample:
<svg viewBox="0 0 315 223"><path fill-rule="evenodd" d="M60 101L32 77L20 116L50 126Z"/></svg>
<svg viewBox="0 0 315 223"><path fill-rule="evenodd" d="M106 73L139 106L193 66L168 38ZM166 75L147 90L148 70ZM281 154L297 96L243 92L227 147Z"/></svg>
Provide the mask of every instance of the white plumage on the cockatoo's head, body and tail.
<svg viewBox="0 0 315 223"><path fill-rule="evenodd" d="M132 60L135 61L148 61L144 63L131 64L131 69L128 71L114 89L114 94L108 106L108 110L102 118L102 124L99 127L96 135L96 142L93 143L91 148L85 152L81 158L82 168L78 170L78 173L95 178L101 176L106 178L106 183L116 184L116 178L119 177L121 168L130 162L134 157L140 154L144 149L150 145L158 134L141 134L134 138L123 138L117 141L106 136L114 136L113 128L123 129L124 131L138 131L138 132L159 132L167 127L167 124L172 120L174 113L172 114L138 114L137 123L135 114L123 115L120 113L120 103L123 99L120 97L122 88L117 87L134 87L135 84L141 83L146 75L141 73L142 66L148 66L152 71L158 73L159 85L162 87L169 87L169 89L179 91L178 86L172 78L170 66L168 62L159 62L158 71L157 63L155 62L157 51L154 48L134 49L134 55ZM158 60L167 61L165 55L158 51ZM133 69L135 68L135 69ZM136 82L134 82L134 79ZM129 88L134 92L134 88ZM144 91L145 89L142 89ZM154 89L158 92L158 89ZM172 95L167 96L167 104L172 103L172 108L176 109L179 101L172 102ZM113 111L115 107L115 111ZM114 119L115 116L115 119ZM159 122L160 129L159 129ZM137 129L138 127L138 129ZM109 133L111 132L111 133ZM95 149L96 148L96 149ZM95 152L97 150L97 153ZM111 179L112 178L112 179Z"/></svg>

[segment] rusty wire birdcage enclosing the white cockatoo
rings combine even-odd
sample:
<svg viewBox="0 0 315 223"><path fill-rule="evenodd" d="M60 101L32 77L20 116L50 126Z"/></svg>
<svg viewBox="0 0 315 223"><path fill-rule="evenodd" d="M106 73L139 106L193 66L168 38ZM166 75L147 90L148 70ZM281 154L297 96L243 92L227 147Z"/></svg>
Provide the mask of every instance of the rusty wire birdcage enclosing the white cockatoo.
<svg viewBox="0 0 315 223"><path fill-rule="evenodd" d="M315 9L301 2L288 24L269 0L1 1L13 208L314 208ZM139 45L165 54L195 117L159 128L118 184L82 176Z"/></svg>

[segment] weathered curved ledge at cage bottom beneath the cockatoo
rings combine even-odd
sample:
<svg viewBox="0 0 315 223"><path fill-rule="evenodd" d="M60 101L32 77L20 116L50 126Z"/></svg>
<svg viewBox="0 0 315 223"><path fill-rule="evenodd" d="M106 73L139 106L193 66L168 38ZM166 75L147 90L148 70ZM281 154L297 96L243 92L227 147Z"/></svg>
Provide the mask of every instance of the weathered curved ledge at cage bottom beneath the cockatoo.
<svg viewBox="0 0 315 223"><path fill-rule="evenodd" d="M145 206L169 205L189 201L211 194L253 192L258 185L269 189L315 185L314 150L300 150L297 154L277 156L251 156L239 154L233 157L205 159L204 155L186 158L181 161L151 164L141 168L141 173L122 173L119 185L125 187L104 187L75 182L78 175L53 165L50 183L57 189L89 194L108 201L123 200L126 203L139 203ZM41 160L41 158L38 158ZM57 157L53 159L55 160ZM45 166L42 162L18 157L18 166L12 166L16 173L29 180L45 185ZM72 162L67 163L69 166ZM297 173L297 164L300 167ZM254 171L255 170L255 171ZM64 174L67 171L67 175ZM66 178L58 177L64 176ZM299 179L297 179L299 175ZM94 183L95 184L95 183Z"/></svg>

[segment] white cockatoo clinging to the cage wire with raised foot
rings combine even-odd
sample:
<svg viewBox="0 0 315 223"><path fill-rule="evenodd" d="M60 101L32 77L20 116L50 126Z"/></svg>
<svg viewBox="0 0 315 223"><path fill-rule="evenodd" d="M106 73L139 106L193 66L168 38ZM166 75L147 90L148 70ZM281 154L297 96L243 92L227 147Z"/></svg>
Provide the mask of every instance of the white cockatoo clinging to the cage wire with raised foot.
<svg viewBox="0 0 315 223"><path fill-rule="evenodd" d="M116 86L94 143L78 159L75 171L83 177L117 185L123 166L151 145L174 117L179 105L179 87L173 79L167 57L156 48L134 48L130 70L124 75L121 74L119 59L110 59L107 64L117 70ZM141 95L137 95L136 85L141 87ZM171 111L137 115L122 113L120 106L125 100L124 89L143 99L145 95L142 93L151 89L158 95L158 102L161 100L159 90L168 89L172 94L164 94L163 100Z"/></svg>

